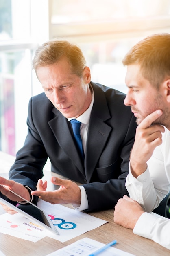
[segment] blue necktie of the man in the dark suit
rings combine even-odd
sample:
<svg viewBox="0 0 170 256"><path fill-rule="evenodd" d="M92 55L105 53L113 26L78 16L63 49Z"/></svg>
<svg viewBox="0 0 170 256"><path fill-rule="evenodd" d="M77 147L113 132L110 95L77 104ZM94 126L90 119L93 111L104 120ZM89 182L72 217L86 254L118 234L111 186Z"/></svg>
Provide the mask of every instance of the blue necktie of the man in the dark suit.
<svg viewBox="0 0 170 256"><path fill-rule="evenodd" d="M80 135L80 126L81 126L81 122L77 121L76 119L72 119L70 121L70 123L72 124L72 129L73 129L73 133L74 133L74 138L76 139L78 148L80 150L81 156L84 159L84 150L83 150L83 145L82 145L82 140L81 140L81 135Z"/></svg>

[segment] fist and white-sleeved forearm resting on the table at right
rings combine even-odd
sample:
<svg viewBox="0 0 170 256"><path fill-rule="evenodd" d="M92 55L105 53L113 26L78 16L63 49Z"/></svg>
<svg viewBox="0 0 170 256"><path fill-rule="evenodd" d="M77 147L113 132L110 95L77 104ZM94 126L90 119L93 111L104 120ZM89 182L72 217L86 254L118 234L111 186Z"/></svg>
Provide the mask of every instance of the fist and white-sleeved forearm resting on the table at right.
<svg viewBox="0 0 170 256"><path fill-rule="evenodd" d="M114 211L114 222L133 229L133 233L149 238L170 249L170 219L143 211L133 199L124 196L118 200Z"/></svg>

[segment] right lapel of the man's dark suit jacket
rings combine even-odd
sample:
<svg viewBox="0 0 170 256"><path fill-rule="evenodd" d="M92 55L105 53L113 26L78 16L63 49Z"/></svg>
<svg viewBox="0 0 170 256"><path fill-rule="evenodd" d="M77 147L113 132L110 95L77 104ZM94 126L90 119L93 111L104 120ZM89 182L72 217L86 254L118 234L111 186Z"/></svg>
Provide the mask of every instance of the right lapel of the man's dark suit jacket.
<svg viewBox="0 0 170 256"><path fill-rule="evenodd" d="M90 182L96 163L105 147L112 128L105 123L110 119L110 112L107 106L104 92L91 83L94 90L94 105L89 121L85 151L85 175L87 182Z"/></svg>

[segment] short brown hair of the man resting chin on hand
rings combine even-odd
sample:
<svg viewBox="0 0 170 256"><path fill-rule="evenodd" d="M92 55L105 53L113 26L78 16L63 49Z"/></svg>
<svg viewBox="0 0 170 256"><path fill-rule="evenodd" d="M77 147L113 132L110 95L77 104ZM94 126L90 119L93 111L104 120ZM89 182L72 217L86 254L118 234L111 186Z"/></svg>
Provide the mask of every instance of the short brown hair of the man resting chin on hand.
<svg viewBox="0 0 170 256"><path fill-rule="evenodd" d="M153 34L139 41L122 63L139 64L144 78L159 89L164 79L170 78L170 34Z"/></svg>

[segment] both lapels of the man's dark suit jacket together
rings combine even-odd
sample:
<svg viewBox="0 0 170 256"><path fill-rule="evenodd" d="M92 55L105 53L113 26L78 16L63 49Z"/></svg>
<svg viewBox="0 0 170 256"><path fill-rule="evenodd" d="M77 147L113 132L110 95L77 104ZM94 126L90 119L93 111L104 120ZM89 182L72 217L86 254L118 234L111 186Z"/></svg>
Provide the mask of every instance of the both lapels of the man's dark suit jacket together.
<svg viewBox="0 0 170 256"><path fill-rule="evenodd" d="M74 161L74 164L77 166L78 170L86 176L87 182L90 182L96 163L98 162L110 132L113 129L105 123L105 121L110 119L111 116L104 92L100 87L98 87L98 85L92 82L91 85L94 90L94 105L92 108L87 134L85 167L83 166L78 155L67 119L63 117L63 115L56 108L53 108L53 112L55 113L56 117L48 122L59 145L61 148L63 148L65 154L67 154L68 157Z"/></svg>

